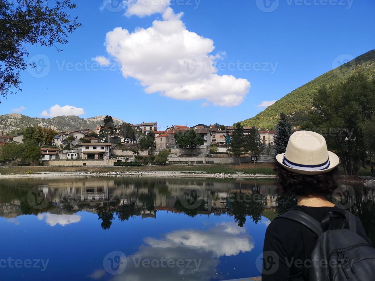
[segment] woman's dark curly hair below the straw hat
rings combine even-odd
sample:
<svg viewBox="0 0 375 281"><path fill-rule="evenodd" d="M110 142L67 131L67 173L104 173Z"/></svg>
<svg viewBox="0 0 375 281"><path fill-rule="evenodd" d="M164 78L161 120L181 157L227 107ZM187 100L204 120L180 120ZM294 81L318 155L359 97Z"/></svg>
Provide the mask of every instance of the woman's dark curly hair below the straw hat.
<svg viewBox="0 0 375 281"><path fill-rule="evenodd" d="M331 195L339 187L339 169L319 175L301 175L285 169L278 162L275 163L276 182L279 193L286 195Z"/></svg>

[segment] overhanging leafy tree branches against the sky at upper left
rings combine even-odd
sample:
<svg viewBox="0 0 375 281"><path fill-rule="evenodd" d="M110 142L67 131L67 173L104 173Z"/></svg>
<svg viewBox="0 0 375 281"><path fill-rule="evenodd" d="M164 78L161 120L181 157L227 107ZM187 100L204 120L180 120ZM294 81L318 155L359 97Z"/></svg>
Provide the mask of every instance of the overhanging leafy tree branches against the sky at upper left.
<svg viewBox="0 0 375 281"><path fill-rule="evenodd" d="M27 61L27 45L50 47L68 43L68 34L81 24L66 11L76 7L69 0L48 4L43 0L0 0L1 96L21 91L21 71L27 66L36 67L36 63ZM61 51L57 48L57 52Z"/></svg>

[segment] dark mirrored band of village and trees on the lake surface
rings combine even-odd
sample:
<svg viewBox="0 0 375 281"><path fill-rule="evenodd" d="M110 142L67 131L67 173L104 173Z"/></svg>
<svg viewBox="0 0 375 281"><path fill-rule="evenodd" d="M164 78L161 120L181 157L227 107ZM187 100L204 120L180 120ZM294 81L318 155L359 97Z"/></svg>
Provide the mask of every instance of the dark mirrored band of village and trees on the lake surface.
<svg viewBox="0 0 375 281"><path fill-rule="evenodd" d="M272 181L207 181L204 179L149 179L149 178L85 178L33 180L34 197L30 194L30 181L18 180L17 189L9 189L12 180L2 181L7 188L0 189L2 217L35 214L45 218L51 226L80 221L78 211L98 214L103 229L110 229L117 217L121 221L131 217L156 218L157 211L196 215L223 215L234 218L238 226L246 217L258 223L264 207L275 206L278 196ZM201 198L195 208L186 208L180 194L186 186L199 189ZM29 193L29 194L27 194ZM39 197L38 197L39 196ZM9 203L8 203L9 202ZM49 212L49 214L40 214Z"/></svg>

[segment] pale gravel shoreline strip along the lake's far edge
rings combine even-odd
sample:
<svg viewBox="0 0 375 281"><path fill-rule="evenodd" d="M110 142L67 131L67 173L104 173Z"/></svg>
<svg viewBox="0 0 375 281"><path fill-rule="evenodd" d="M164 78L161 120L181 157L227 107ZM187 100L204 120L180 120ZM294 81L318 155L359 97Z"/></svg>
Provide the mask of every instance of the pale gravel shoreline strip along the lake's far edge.
<svg viewBox="0 0 375 281"><path fill-rule="evenodd" d="M193 178L275 178L276 175L267 174L246 174L236 173L207 173L207 172L157 172L157 171L123 171L123 172L36 172L7 173L0 175L0 178L35 178L35 177L56 177L56 176L167 176L167 177L193 177Z"/></svg>

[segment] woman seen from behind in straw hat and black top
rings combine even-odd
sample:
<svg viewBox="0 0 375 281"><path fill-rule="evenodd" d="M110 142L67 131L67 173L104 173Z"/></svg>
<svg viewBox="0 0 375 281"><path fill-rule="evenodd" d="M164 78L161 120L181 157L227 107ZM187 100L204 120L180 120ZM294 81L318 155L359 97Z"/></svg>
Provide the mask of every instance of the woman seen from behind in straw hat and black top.
<svg viewBox="0 0 375 281"><path fill-rule="evenodd" d="M339 158L327 151L324 137L315 132L297 131L291 135L285 153L278 154L276 160L276 181L281 195L297 196L293 211L307 214L309 220L319 224L328 214L341 213L342 216L330 220L329 226L341 229L346 212L327 200L339 188ZM354 231L371 244L360 220L357 217L354 220ZM273 220L264 240L262 281L311 280L312 253L318 237L306 224L287 217Z"/></svg>

